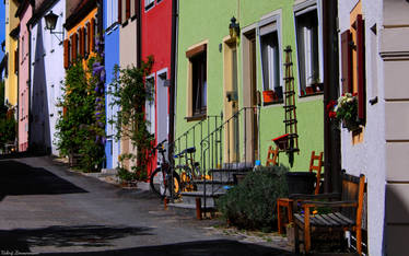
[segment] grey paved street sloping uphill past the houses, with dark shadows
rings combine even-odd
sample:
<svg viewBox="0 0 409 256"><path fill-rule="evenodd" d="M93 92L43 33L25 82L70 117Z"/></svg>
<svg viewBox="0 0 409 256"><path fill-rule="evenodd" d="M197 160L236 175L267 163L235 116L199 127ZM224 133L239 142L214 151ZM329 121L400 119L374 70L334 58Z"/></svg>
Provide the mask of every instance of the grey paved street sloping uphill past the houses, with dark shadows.
<svg viewBox="0 0 409 256"><path fill-rule="evenodd" d="M150 191L121 189L49 158L0 161L2 255L290 255L214 232L215 220L165 211Z"/></svg>

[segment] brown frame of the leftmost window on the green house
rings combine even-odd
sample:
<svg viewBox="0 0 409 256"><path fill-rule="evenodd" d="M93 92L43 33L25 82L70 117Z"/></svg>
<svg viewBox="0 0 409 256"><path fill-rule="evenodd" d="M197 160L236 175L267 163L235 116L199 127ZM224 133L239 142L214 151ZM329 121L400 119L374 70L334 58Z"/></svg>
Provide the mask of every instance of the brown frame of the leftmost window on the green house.
<svg viewBox="0 0 409 256"><path fill-rule="evenodd" d="M206 85L202 84L201 85L201 90L203 90L203 92L206 92L206 103L204 103L204 107L203 107L203 103L201 104L201 109L199 112L197 112L197 108L195 107L194 103L194 62L192 62L192 58L195 57L198 57L200 55L203 55L204 56L204 71L206 71L206 75L204 75L204 81L206 81ZM188 61L188 82L187 82L187 96L188 96L188 104L187 104L187 117L186 119L188 121L190 120L201 120L203 118L206 118L207 116L207 112L208 112L208 73L209 73L209 56L208 56L208 42L204 42L204 43L200 43L196 46L192 46L190 47L188 50L186 50L186 59Z"/></svg>

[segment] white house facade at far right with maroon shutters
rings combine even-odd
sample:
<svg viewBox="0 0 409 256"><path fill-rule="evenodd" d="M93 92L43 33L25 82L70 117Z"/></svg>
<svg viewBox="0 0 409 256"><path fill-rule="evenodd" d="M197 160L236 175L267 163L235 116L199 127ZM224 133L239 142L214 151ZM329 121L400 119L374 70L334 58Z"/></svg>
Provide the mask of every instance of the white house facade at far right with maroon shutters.
<svg viewBox="0 0 409 256"><path fill-rule="evenodd" d="M341 92L360 128L341 129L342 168L365 174L369 255L405 255L409 232L409 2L338 1Z"/></svg>

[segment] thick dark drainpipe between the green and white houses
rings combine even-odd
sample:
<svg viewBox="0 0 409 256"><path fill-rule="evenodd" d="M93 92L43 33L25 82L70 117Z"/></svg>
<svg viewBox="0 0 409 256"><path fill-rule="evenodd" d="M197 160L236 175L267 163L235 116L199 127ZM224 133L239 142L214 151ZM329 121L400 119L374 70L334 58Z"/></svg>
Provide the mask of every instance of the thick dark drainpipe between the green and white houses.
<svg viewBox="0 0 409 256"><path fill-rule="evenodd" d="M339 96L338 0L323 1L324 36L324 163L326 193L341 189L340 131L331 126L326 106Z"/></svg>

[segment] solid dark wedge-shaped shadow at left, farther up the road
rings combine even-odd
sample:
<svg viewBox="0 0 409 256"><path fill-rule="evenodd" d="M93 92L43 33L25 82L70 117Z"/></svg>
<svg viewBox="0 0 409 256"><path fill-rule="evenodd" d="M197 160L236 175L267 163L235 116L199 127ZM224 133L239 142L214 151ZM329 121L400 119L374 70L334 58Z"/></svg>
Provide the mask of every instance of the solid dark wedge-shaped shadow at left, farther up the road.
<svg viewBox="0 0 409 256"><path fill-rule="evenodd" d="M17 195L60 195L87 193L45 168L15 161L0 162L0 200Z"/></svg>

